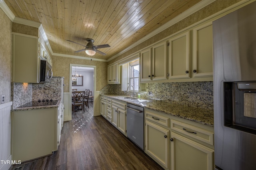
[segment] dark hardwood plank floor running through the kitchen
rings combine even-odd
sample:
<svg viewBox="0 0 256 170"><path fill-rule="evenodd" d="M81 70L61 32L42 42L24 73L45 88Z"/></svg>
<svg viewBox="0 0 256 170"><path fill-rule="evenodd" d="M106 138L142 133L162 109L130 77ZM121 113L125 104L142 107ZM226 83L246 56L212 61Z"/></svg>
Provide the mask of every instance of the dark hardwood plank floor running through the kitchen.
<svg viewBox="0 0 256 170"><path fill-rule="evenodd" d="M162 170L104 117L93 117L92 105L89 102L89 109L73 113L72 120L64 122L58 151L10 169Z"/></svg>

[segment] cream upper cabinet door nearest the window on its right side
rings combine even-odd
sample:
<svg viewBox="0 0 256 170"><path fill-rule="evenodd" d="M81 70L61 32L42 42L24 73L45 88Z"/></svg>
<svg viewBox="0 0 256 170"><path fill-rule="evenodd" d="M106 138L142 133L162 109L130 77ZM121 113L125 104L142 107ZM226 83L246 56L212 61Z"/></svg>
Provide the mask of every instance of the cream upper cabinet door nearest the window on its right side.
<svg viewBox="0 0 256 170"><path fill-rule="evenodd" d="M151 48L141 52L140 56L140 82L151 81L152 76L152 54Z"/></svg>

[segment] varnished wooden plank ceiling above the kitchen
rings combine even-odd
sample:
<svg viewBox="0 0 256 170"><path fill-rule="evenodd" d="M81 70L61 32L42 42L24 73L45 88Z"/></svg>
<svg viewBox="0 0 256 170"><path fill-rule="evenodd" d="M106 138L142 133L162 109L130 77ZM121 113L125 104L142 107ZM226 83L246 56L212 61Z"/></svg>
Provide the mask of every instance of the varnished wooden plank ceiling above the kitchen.
<svg viewBox="0 0 256 170"><path fill-rule="evenodd" d="M42 23L54 53L86 56L86 38L109 59L201 0L4 0L19 18Z"/></svg>

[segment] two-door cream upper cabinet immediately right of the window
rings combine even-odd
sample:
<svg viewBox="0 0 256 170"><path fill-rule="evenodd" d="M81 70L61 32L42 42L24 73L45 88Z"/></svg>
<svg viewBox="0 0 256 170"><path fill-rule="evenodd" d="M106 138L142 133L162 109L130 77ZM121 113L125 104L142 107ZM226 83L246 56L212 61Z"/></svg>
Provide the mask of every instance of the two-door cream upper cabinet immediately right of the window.
<svg viewBox="0 0 256 170"><path fill-rule="evenodd" d="M167 79L167 41L140 52L140 82Z"/></svg>

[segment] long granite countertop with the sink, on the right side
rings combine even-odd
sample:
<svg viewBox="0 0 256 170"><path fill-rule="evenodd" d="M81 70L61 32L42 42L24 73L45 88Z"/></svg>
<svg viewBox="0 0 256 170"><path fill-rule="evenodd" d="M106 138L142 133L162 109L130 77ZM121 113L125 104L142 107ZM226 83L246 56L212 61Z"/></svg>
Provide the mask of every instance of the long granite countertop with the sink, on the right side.
<svg viewBox="0 0 256 170"><path fill-rule="evenodd" d="M179 104L177 101L165 102L163 100L150 100L145 102L132 102L129 100L123 100L118 98L118 97L124 97L124 96L116 96L116 95L101 95L101 96L106 96L109 98L121 100L126 103L160 111L169 115L173 115L173 116L181 117L183 119L187 119L190 121L202 123L204 125L208 125L212 127L214 126L214 114L213 114L213 110L210 110L210 109L202 109L199 107L188 107L188 106ZM145 99L145 100L148 100L148 99Z"/></svg>

